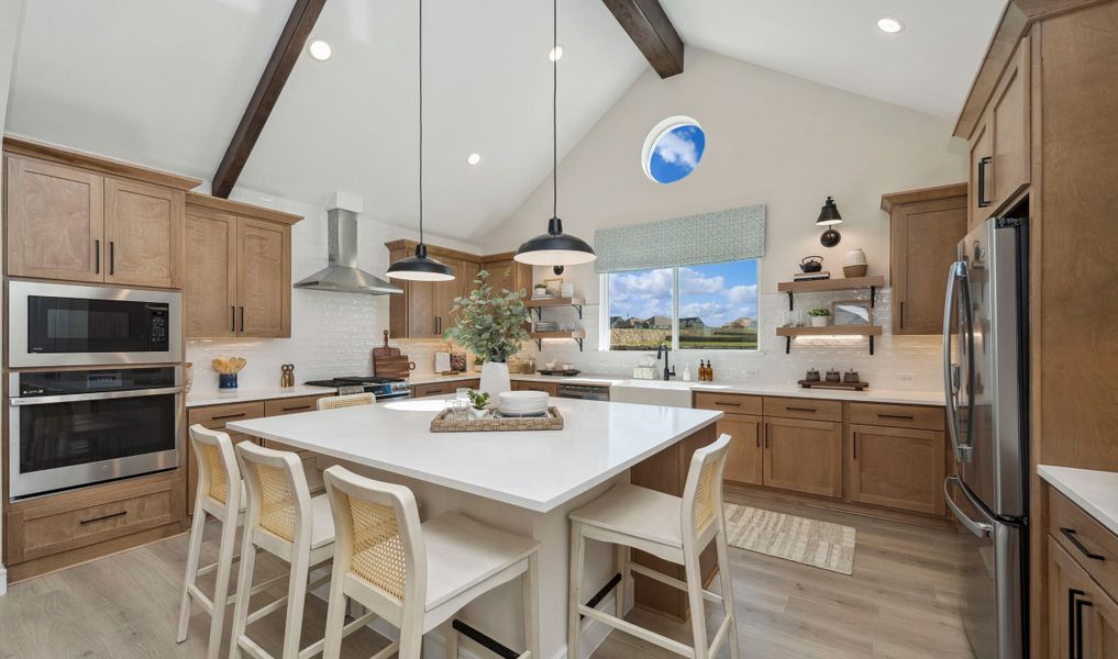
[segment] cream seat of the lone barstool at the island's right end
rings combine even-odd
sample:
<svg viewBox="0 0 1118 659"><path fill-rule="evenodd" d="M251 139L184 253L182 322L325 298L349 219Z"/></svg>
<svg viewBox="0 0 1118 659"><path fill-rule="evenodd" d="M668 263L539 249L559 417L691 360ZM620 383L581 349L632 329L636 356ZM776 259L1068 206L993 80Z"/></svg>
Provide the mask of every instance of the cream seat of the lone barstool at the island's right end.
<svg viewBox="0 0 1118 659"><path fill-rule="evenodd" d="M570 513L570 518L672 547L683 546L680 512L683 499L670 494L620 484Z"/></svg>

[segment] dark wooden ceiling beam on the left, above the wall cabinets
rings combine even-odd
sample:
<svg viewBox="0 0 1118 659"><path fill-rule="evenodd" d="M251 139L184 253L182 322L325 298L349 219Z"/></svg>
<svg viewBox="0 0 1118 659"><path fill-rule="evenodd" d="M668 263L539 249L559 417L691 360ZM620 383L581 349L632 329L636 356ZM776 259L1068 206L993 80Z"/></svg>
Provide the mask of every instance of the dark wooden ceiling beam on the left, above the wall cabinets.
<svg viewBox="0 0 1118 659"><path fill-rule="evenodd" d="M287 83L287 76L295 68L295 63L299 61L299 56L306 45L307 37L311 36L311 30L314 29L314 23L319 20L319 13L322 12L325 1L295 0L291 16L287 17L287 25L284 26L275 50L272 51L272 58L264 67L260 82L256 84L256 90L253 92L248 107L240 117L240 124L237 125L237 131L225 150L221 164L214 173L211 191L214 197L228 198L237 179L240 178L240 171L245 169L256 140L264 131L264 125L268 123L272 108L275 107L280 93Z"/></svg>

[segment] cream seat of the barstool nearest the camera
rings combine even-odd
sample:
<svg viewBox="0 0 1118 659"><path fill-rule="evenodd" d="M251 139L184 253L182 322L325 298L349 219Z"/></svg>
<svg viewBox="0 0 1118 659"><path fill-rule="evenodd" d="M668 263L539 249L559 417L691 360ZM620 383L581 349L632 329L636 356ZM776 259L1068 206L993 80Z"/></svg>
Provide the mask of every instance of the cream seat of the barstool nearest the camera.
<svg viewBox="0 0 1118 659"><path fill-rule="evenodd" d="M427 547L428 611L515 565L540 544L457 513L439 515L421 528Z"/></svg>

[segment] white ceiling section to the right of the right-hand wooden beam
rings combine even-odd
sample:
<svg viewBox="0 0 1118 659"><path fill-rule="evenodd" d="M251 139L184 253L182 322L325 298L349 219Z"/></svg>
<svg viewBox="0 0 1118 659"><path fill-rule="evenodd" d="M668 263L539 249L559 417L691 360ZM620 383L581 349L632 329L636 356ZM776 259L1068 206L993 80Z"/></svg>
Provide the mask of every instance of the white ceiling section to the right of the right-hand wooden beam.
<svg viewBox="0 0 1118 659"><path fill-rule="evenodd" d="M661 0L683 40L955 121L1006 0ZM878 19L904 30L888 35Z"/></svg>

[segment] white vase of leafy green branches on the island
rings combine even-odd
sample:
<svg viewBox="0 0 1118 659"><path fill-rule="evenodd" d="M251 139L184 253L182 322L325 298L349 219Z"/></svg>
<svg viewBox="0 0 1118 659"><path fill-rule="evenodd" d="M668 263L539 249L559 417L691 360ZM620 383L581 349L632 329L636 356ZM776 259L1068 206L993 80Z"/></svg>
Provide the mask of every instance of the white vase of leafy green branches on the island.
<svg viewBox="0 0 1118 659"><path fill-rule="evenodd" d="M512 390L509 357L520 352L520 344L529 338L531 316L523 299L527 292L494 293L486 270L477 273L474 284L477 287L468 296L454 298L452 312L457 319L443 336L485 360L481 391L496 395Z"/></svg>

